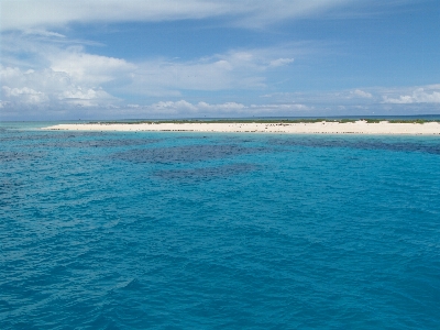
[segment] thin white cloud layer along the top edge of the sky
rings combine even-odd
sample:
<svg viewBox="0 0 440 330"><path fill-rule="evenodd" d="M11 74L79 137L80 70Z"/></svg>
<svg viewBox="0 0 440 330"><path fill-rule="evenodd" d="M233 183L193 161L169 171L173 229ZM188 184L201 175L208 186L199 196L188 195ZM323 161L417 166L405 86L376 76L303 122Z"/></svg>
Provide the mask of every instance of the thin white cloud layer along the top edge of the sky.
<svg viewBox="0 0 440 330"><path fill-rule="evenodd" d="M321 13L352 0L2 0L1 29L63 26L72 22L173 21L233 18L237 25L265 24Z"/></svg>

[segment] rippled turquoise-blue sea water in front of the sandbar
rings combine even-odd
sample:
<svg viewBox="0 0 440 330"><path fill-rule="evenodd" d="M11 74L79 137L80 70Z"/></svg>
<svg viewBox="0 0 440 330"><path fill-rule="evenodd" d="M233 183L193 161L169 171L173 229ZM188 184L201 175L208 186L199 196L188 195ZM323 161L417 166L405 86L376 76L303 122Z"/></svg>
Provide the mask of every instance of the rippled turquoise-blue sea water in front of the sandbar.
<svg viewBox="0 0 440 330"><path fill-rule="evenodd" d="M0 127L1 329L440 328L439 136L37 127Z"/></svg>

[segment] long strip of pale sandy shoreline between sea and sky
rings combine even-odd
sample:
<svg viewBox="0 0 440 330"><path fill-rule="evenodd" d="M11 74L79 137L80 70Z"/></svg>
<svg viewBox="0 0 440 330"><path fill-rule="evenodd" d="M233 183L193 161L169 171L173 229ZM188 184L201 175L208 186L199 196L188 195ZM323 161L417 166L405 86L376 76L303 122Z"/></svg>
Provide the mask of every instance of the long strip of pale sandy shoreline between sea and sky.
<svg viewBox="0 0 440 330"><path fill-rule="evenodd" d="M42 130L121 132L212 132L285 134L440 135L437 120L179 120L57 124Z"/></svg>

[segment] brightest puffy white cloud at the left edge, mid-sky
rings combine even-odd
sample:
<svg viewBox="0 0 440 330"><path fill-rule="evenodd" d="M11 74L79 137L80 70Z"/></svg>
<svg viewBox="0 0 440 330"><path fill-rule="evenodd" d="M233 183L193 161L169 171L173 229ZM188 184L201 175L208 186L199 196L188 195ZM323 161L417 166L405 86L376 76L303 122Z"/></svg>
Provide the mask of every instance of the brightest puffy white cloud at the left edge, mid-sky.
<svg viewBox="0 0 440 330"><path fill-rule="evenodd" d="M34 37L44 35L44 38ZM135 65L124 59L88 54L82 46L54 43L63 38L51 33L8 35L3 54L14 57L25 54L25 62L4 61L0 65L3 100L8 107L65 106L98 107L119 103L120 100L103 89L117 80L130 82ZM122 81L122 82L121 82Z"/></svg>

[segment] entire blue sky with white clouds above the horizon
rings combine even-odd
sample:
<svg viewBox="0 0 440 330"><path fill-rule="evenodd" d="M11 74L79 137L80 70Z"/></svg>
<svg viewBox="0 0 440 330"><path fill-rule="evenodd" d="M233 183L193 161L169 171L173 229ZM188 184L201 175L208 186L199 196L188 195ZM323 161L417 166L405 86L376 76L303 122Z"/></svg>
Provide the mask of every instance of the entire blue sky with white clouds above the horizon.
<svg viewBox="0 0 440 330"><path fill-rule="evenodd" d="M0 0L0 120L440 114L438 0Z"/></svg>

